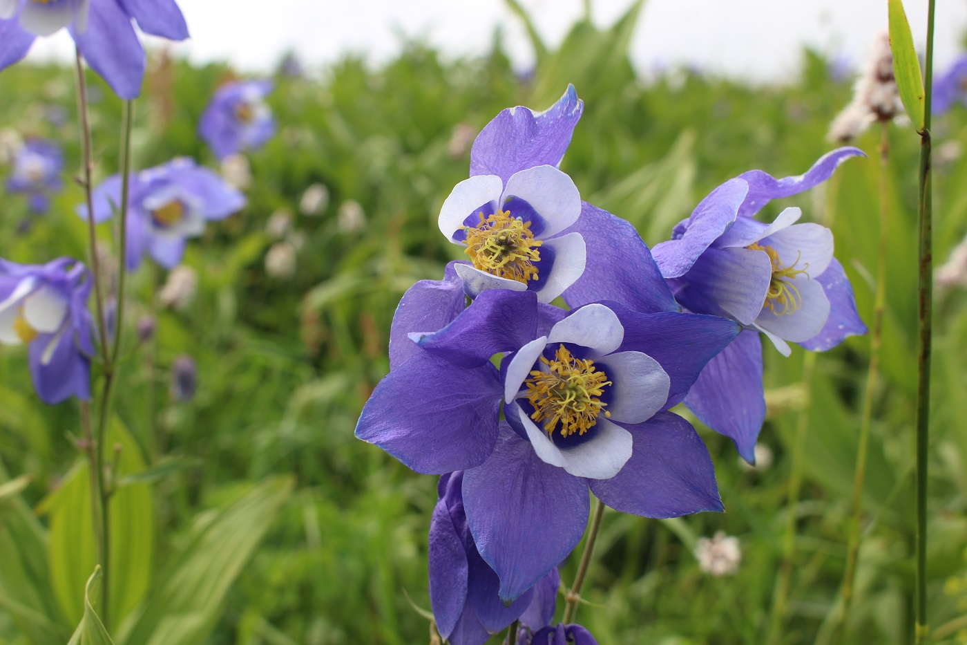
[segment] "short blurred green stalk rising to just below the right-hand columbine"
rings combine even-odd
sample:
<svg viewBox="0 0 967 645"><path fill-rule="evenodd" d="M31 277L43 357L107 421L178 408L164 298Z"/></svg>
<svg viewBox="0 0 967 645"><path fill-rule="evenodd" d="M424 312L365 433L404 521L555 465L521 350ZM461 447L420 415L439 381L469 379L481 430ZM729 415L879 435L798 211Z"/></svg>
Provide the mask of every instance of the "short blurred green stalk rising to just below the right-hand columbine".
<svg viewBox="0 0 967 645"><path fill-rule="evenodd" d="M809 409L812 389L812 372L816 365L816 354L806 353L803 359L803 386L806 391L806 401L796 424L796 437L792 447L792 469L789 474L789 494L786 501L786 529L782 538L782 567L773 591L772 620L769 625L767 643L778 643L782 639L782 623L786 614L786 604L789 600L789 587L792 583L793 562L796 559L796 519L799 517L799 495L803 488L803 470L805 466L804 452L806 451L806 432L809 428Z"/></svg>

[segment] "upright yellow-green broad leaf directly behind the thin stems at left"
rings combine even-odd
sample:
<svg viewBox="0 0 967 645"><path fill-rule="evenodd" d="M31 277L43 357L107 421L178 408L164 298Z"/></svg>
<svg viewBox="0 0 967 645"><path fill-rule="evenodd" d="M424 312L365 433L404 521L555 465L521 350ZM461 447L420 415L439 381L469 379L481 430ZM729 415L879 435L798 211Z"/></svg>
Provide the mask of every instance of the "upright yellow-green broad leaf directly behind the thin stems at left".
<svg viewBox="0 0 967 645"><path fill-rule="evenodd" d="M107 445L121 445L119 475L145 470L137 442L118 419L108 428ZM110 454L110 451L105 451ZM38 507L50 515L48 554L53 588L71 623L84 610L82 590L97 563L91 518L91 477L86 461L78 462L60 488ZM118 624L147 592L154 560L155 511L151 487L132 483L118 488L110 501L110 616Z"/></svg>

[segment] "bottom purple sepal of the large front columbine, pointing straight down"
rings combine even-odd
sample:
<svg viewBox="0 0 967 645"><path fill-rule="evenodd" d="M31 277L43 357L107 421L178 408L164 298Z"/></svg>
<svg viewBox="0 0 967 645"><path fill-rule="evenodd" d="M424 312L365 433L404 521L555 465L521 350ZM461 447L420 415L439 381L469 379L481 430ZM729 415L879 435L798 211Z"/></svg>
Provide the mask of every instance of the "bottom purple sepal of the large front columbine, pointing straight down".
<svg viewBox="0 0 967 645"><path fill-rule="evenodd" d="M587 482L545 464L507 423L490 458L464 473L463 504L481 556L500 576L505 603L571 553L590 508Z"/></svg>

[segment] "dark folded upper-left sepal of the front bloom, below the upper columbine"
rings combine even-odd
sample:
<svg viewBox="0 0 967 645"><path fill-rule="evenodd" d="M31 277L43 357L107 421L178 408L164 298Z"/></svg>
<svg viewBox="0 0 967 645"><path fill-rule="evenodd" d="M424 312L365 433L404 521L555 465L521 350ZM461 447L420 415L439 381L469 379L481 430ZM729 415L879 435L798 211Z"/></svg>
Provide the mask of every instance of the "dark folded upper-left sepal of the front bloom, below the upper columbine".
<svg viewBox="0 0 967 645"><path fill-rule="evenodd" d="M519 350L538 337L537 329L535 292L492 289L478 295L453 323L416 342L454 365L477 367L495 353Z"/></svg>

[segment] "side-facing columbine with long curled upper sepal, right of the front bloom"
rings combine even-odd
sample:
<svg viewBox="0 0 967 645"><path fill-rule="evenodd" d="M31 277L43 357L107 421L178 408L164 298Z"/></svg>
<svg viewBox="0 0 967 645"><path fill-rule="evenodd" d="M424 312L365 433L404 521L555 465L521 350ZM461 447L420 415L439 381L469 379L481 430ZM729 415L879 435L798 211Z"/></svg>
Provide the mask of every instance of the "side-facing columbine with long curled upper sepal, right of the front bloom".
<svg viewBox="0 0 967 645"><path fill-rule="evenodd" d="M782 211L770 225L752 217L770 200L826 181L854 156L864 154L838 148L806 174L784 179L761 170L745 172L702 200L675 227L673 239L653 251L687 310L726 316L746 328L709 361L685 403L703 423L730 437L749 463L765 418L758 332L784 355L791 352L787 342L821 352L866 332L853 288L833 257L832 232L818 224L795 224L798 208Z"/></svg>

